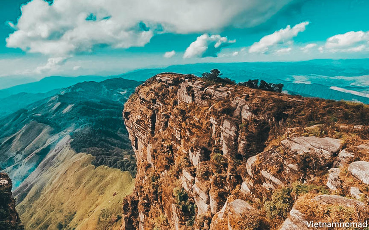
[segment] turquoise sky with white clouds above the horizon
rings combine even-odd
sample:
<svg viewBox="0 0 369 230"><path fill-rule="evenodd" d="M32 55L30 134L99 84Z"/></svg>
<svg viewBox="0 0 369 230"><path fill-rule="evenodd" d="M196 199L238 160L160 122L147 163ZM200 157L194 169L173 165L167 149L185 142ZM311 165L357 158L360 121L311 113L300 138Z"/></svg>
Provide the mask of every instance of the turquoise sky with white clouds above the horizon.
<svg viewBox="0 0 369 230"><path fill-rule="evenodd" d="M1 3L0 78L13 82L173 64L369 58L367 0Z"/></svg>

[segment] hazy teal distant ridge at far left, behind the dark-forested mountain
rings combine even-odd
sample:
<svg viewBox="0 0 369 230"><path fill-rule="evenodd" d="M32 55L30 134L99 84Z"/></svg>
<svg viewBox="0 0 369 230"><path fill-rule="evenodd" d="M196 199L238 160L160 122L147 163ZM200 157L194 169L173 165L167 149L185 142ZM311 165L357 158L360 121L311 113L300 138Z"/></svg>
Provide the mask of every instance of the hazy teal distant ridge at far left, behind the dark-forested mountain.
<svg viewBox="0 0 369 230"><path fill-rule="evenodd" d="M7 89L0 90L0 98L6 98L8 96L17 93L46 93L53 89L60 89L69 87L84 81L96 81L100 82L107 79L107 77L101 76L79 76L79 77L60 77L51 76L42 78L40 81L31 82L22 85L16 85Z"/></svg>

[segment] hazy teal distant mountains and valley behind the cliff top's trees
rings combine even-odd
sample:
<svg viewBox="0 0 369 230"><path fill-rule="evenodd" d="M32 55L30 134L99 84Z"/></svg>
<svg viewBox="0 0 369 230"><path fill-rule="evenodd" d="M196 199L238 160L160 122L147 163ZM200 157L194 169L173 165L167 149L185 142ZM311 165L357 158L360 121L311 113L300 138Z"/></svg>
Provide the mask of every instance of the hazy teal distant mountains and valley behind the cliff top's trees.
<svg viewBox="0 0 369 230"><path fill-rule="evenodd" d="M179 72L201 76L203 72L208 72L213 68L219 69L223 73L223 77L231 78L236 82L263 79L271 83L283 83L283 89L292 94L369 103L369 98L366 96L369 93L368 59L321 59L274 63L198 63L137 70L119 76L144 81L161 72ZM336 87L346 90L340 92L337 91Z"/></svg>

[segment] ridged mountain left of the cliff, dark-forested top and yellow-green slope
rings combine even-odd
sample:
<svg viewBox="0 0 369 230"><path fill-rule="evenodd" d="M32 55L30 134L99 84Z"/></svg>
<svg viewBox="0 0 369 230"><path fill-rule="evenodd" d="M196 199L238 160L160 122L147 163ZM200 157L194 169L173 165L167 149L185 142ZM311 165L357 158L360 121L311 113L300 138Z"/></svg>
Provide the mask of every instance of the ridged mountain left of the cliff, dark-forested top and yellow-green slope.
<svg viewBox="0 0 369 230"><path fill-rule="evenodd" d="M122 111L139 84L77 83L0 119L0 170L25 229L120 226L136 173Z"/></svg>

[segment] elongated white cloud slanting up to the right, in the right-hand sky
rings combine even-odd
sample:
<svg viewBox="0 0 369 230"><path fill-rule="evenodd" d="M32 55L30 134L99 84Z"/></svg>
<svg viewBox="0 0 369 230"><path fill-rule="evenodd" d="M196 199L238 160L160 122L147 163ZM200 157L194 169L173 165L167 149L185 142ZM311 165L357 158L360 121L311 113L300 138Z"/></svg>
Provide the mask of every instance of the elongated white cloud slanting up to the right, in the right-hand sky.
<svg viewBox="0 0 369 230"><path fill-rule="evenodd" d="M282 42L289 42L290 39L296 37L299 32L305 31L306 26L309 24L308 21L301 22L291 28L287 25L286 28L275 31L272 34L266 35L255 42L249 49L249 53L265 53L270 46L276 45Z"/></svg>

